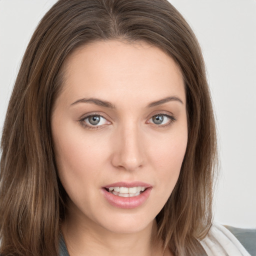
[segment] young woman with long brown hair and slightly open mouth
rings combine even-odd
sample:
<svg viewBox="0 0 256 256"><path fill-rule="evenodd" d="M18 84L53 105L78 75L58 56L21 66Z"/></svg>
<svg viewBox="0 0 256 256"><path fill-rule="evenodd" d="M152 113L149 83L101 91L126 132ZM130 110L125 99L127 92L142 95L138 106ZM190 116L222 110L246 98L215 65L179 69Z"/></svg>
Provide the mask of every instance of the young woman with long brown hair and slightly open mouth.
<svg viewBox="0 0 256 256"><path fill-rule="evenodd" d="M248 255L212 226L203 59L165 0L59 0L23 57L1 146L2 255Z"/></svg>

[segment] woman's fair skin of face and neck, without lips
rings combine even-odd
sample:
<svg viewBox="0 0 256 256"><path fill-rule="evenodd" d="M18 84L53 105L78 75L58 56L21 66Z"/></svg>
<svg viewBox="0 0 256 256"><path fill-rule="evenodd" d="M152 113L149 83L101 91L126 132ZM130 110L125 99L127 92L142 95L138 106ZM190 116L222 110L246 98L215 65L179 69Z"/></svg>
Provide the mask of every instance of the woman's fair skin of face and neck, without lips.
<svg viewBox="0 0 256 256"><path fill-rule="evenodd" d="M70 256L163 255L161 241L151 238L155 216L177 181L187 144L179 67L145 42L109 40L76 49L63 68L51 129L58 175L69 196L62 232ZM175 98L148 106L166 97ZM114 107L76 102L82 98ZM93 126L89 114L103 118ZM171 117L156 124L156 114ZM119 181L149 183L150 195L133 209L112 206L101 189Z"/></svg>

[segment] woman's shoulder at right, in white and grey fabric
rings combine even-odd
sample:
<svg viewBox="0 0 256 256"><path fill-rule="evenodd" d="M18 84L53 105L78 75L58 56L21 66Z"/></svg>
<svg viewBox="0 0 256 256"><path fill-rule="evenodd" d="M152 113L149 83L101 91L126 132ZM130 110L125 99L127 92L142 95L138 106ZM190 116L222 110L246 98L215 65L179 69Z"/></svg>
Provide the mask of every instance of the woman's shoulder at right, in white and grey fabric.
<svg viewBox="0 0 256 256"><path fill-rule="evenodd" d="M226 228L223 225L214 223L200 243L208 256L255 256L255 235L255 229Z"/></svg>

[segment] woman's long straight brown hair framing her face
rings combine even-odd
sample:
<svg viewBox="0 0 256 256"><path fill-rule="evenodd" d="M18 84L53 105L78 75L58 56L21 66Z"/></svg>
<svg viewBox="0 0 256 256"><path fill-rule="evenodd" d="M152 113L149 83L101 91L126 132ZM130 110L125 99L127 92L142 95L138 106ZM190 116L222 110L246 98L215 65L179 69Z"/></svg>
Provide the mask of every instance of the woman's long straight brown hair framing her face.
<svg viewBox="0 0 256 256"><path fill-rule="evenodd" d="M211 225L215 125L197 40L167 0L59 0L38 24L22 59L4 122L0 162L0 253L57 255L66 194L51 139L61 67L95 40L143 40L179 65L186 89L188 143L178 181L156 216L175 255L199 255Z"/></svg>

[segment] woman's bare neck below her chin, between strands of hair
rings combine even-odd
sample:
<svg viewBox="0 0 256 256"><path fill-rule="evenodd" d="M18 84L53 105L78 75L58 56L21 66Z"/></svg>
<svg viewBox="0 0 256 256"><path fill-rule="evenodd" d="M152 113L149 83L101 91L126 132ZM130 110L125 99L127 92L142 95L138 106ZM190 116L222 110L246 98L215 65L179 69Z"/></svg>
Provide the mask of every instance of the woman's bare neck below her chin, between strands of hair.
<svg viewBox="0 0 256 256"><path fill-rule="evenodd" d="M70 214L72 215L72 214ZM62 233L70 256L163 255L161 243L156 241L156 221L135 233L116 233L89 219L67 218Z"/></svg>

